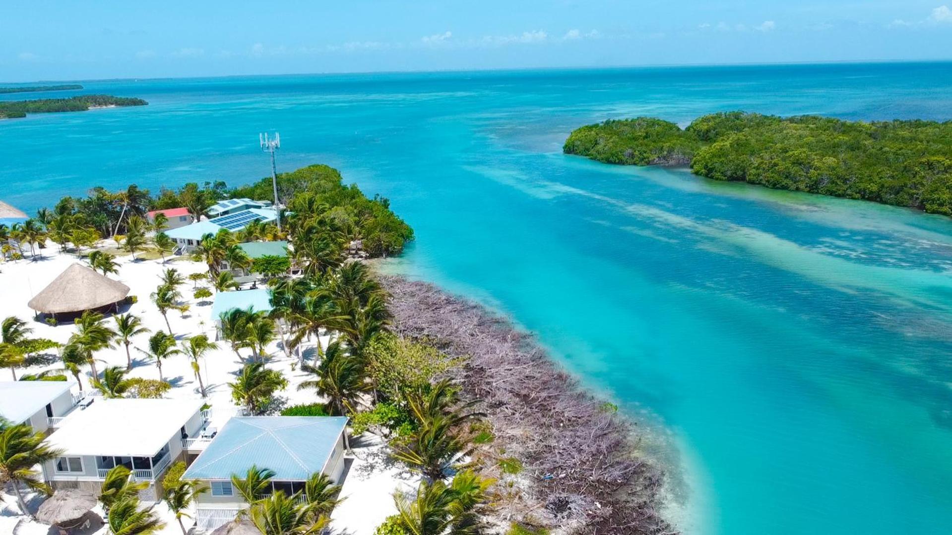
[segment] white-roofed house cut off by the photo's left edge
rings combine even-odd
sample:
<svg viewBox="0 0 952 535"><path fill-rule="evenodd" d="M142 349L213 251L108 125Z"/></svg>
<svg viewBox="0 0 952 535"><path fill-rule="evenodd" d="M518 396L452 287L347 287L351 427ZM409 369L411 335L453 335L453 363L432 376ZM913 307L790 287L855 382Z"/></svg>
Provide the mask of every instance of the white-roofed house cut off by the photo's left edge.
<svg viewBox="0 0 952 535"><path fill-rule="evenodd" d="M74 381L0 381L0 416L11 424L49 431L79 402Z"/></svg>

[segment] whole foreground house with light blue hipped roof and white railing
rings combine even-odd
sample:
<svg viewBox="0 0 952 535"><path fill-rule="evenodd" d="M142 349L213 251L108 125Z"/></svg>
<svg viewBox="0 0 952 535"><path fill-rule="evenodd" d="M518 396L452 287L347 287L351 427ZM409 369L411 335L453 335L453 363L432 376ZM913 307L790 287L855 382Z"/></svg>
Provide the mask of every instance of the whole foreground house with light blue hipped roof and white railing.
<svg viewBox="0 0 952 535"><path fill-rule="evenodd" d="M291 495L304 489L307 478L324 473L334 483L344 475L347 417L234 417L210 441L183 476L208 486L196 499L195 522L214 529L248 506L231 485L252 465L274 471L271 492Z"/></svg>

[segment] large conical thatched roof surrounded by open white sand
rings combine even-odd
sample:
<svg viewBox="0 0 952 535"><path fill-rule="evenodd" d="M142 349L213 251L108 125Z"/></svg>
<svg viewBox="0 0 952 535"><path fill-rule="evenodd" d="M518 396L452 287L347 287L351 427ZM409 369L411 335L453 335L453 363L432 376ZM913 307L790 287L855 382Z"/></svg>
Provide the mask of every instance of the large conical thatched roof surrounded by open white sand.
<svg viewBox="0 0 952 535"><path fill-rule="evenodd" d="M30 308L47 314L82 312L121 301L129 295L129 286L72 264L53 279L42 292L30 299Z"/></svg>

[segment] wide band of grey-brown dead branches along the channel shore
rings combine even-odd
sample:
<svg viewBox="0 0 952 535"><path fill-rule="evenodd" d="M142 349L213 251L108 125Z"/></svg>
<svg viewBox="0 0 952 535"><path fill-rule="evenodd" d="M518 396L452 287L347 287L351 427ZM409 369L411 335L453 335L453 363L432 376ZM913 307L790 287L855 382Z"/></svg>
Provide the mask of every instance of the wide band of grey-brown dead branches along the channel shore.
<svg viewBox="0 0 952 535"><path fill-rule="evenodd" d="M526 477L517 503L501 506L504 520L592 535L675 532L658 511L663 474L637 452L632 424L605 411L530 335L426 282L381 281L398 334L466 357L454 379L482 400L497 445L522 461Z"/></svg>

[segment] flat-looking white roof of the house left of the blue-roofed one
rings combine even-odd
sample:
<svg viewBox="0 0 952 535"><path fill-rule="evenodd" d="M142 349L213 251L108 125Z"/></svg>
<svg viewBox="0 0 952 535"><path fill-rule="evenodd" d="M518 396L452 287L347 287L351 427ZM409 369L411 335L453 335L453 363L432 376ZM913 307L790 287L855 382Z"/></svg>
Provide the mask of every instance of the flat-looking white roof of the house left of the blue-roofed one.
<svg viewBox="0 0 952 535"><path fill-rule="evenodd" d="M202 410L200 399L95 399L75 409L47 441L70 455L150 457Z"/></svg>

